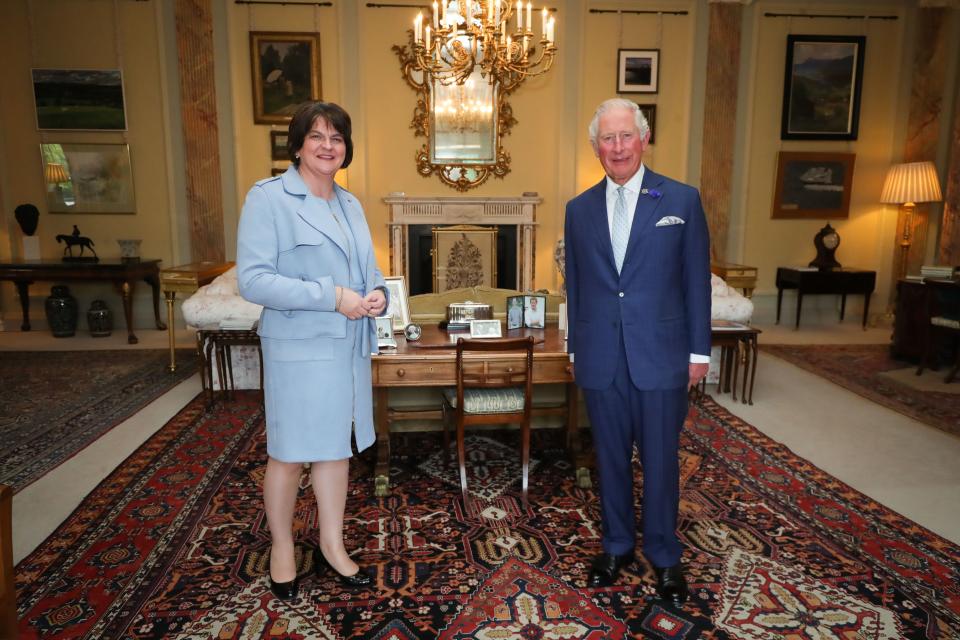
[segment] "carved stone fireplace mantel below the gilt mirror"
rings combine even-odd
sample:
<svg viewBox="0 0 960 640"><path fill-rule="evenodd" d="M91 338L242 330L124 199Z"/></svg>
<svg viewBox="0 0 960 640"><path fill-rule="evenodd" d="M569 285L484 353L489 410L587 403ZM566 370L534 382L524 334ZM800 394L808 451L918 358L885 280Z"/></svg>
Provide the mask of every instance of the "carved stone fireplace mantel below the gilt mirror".
<svg viewBox="0 0 960 640"><path fill-rule="evenodd" d="M390 207L390 271L410 278L408 228L411 225L455 224L517 227L516 288L532 291L536 255L536 193L517 197L407 196L391 193L383 199Z"/></svg>

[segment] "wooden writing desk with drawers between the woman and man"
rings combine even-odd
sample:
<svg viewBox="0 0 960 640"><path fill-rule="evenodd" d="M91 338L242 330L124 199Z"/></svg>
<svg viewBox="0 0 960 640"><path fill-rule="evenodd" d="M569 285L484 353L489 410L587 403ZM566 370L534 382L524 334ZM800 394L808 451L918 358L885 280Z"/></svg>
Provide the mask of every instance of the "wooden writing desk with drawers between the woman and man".
<svg viewBox="0 0 960 640"><path fill-rule="evenodd" d="M460 334L464 335L464 334ZM590 476L586 458L576 437L577 386L573 382L573 367L567 355L566 342L556 325L546 329L512 329L504 337L532 335L542 338L533 350L534 384L563 383L566 385L566 405L559 412L566 416L566 441L577 467L577 479L589 486ZM467 337L464 335L464 337ZM395 420L412 418L440 418L439 399L435 411L403 412L388 406L390 389L403 387L456 386L456 348L446 331L436 325L424 325L423 336L417 342L407 342L397 334L397 348L386 349L373 356L374 421L377 428L377 465L374 471L376 495L384 496L390 488L390 425ZM521 366L517 356L484 355L469 358L466 367ZM536 409L534 415L555 414L556 408Z"/></svg>

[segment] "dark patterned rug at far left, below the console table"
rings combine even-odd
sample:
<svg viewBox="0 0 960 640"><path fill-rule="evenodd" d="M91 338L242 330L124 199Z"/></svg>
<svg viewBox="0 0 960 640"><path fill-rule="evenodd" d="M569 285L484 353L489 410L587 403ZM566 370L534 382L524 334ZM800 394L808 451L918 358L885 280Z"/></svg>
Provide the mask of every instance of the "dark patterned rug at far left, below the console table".
<svg viewBox="0 0 960 640"><path fill-rule="evenodd" d="M197 370L192 349L4 351L0 482L19 491Z"/></svg>

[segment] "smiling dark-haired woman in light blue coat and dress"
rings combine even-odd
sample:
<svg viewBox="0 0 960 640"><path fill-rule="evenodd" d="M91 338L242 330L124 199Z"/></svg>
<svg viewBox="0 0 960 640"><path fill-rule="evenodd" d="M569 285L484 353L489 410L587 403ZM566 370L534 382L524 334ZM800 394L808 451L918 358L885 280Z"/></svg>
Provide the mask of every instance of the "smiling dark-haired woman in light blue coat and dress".
<svg viewBox="0 0 960 640"><path fill-rule="evenodd" d="M351 436L358 451L375 439L370 354L373 318L387 308L370 229L357 199L334 182L350 164L350 116L307 103L290 122L286 173L247 194L237 237L240 294L263 305L270 589L297 597L293 511L300 472L311 463L320 539L317 571L364 587L371 577L343 543Z"/></svg>

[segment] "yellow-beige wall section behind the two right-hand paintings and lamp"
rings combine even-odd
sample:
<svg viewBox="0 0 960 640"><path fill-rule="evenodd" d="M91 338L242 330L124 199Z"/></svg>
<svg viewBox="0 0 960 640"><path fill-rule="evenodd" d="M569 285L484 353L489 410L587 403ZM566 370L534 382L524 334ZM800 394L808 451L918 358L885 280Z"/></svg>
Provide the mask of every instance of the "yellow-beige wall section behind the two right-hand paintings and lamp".
<svg viewBox="0 0 960 640"><path fill-rule="evenodd" d="M807 5L811 13L836 11L832 5ZM855 153L856 160L851 190L850 215L844 220L830 220L841 237L837 259L845 267L878 271L878 291L889 287L889 264L883 259L893 249L893 230L887 230L889 217L879 204L880 189L887 167L903 142L894 137L891 126L898 105L904 101L900 83L902 73L904 11L897 7L881 7L876 3L850 3L851 13L883 13L899 15L899 20L802 20L799 18L767 18L765 12L790 12L796 4L760 2L748 19L752 21L754 40L745 52L748 67L746 99L748 140L740 148L745 172L741 185L743 206L735 211L740 216L743 236L734 260L742 260L759 268L758 294L775 293L774 279L778 266L806 265L816 256L813 237L826 220L773 220L774 183L779 151L818 151ZM892 9L892 13L891 13ZM863 94L860 102L860 133L852 141L780 140L780 118L783 99L783 74L787 34L865 35ZM905 102L904 102L905 104ZM895 213L895 212L893 212ZM878 296L879 298L879 296ZM831 301L832 302L832 301Z"/></svg>

